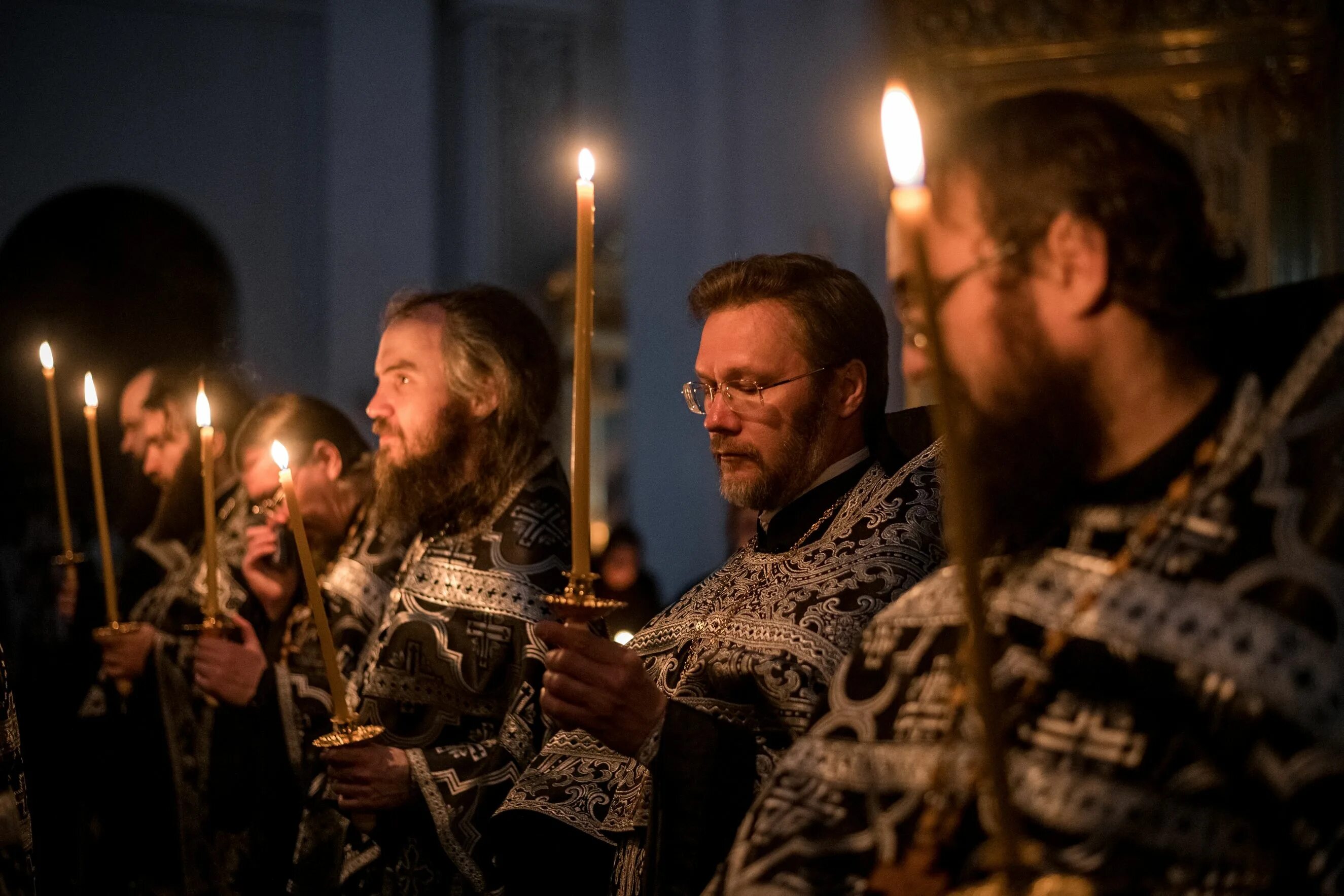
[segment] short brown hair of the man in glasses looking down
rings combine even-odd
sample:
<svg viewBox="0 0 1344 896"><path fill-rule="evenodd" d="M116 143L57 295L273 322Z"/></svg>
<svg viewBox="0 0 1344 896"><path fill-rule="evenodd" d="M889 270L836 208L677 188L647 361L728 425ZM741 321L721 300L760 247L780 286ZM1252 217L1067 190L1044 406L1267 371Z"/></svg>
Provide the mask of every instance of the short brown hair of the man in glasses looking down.
<svg viewBox="0 0 1344 896"><path fill-rule="evenodd" d="M804 253L753 255L706 271L691 289L691 313L777 301L797 318L804 353L817 367L863 361L868 383L863 429L870 447L887 433L887 321L852 271Z"/></svg>

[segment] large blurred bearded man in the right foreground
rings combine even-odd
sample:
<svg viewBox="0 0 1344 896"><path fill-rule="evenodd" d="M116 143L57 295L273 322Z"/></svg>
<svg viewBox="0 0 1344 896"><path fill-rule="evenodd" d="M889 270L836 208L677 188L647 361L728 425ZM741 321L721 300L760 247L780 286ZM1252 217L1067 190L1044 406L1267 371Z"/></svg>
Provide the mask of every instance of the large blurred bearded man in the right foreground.
<svg viewBox="0 0 1344 896"><path fill-rule="evenodd" d="M712 892L1340 892L1344 283L1220 298L1239 258L1189 163L1109 99L996 102L934 161L1004 744L943 570L870 626Z"/></svg>

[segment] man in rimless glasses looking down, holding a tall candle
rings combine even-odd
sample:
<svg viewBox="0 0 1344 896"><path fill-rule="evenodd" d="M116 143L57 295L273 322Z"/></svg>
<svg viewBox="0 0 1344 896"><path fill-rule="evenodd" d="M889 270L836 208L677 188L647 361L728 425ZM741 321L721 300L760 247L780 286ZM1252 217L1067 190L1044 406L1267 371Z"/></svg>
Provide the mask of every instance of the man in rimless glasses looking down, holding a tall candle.
<svg viewBox="0 0 1344 896"><path fill-rule="evenodd" d="M560 732L496 817L509 892L699 893L866 623L943 559L938 449L921 411L888 420L886 324L859 278L757 255L689 304L683 398L757 535L628 647L538 625Z"/></svg>

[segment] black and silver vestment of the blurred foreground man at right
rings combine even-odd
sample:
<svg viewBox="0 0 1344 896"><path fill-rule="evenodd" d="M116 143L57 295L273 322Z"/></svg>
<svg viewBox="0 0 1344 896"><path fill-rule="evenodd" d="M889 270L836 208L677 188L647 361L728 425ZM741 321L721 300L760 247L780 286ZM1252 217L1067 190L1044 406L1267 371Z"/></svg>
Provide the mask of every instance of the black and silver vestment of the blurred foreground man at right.
<svg viewBox="0 0 1344 896"><path fill-rule="evenodd" d="M1344 892L1341 286L1238 300L1220 396L1051 547L988 564L1009 790L1040 873L1117 895ZM950 568L879 614L714 893L862 893L931 806L934 870L984 880L962 621Z"/></svg>

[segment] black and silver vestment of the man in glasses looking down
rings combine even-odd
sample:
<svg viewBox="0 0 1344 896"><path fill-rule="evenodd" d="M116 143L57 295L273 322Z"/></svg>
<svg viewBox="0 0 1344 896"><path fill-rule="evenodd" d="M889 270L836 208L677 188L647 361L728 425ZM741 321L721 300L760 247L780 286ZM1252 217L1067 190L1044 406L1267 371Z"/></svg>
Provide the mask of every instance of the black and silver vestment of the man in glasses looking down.
<svg viewBox="0 0 1344 896"><path fill-rule="evenodd" d="M922 412L896 416L906 450L793 501L634 637L671 697L637 759L583 731L547 742L496 818L511 893L708 883L864 626L943 559L938 449Z"/></svg>

